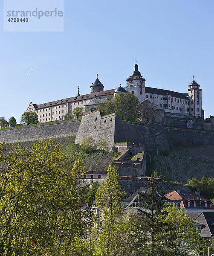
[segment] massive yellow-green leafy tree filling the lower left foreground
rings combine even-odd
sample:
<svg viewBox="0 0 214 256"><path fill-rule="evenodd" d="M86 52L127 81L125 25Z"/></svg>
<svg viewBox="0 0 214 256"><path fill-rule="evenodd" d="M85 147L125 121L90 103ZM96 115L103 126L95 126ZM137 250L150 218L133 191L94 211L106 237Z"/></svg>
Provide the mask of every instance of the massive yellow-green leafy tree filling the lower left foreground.
<svg viewBox="0 0 214 256"><path fill-rule="evenodd" d="M77 255L84 235L80 159L53 140L29 149L0 143L0 252L7 256Z"/></svg>

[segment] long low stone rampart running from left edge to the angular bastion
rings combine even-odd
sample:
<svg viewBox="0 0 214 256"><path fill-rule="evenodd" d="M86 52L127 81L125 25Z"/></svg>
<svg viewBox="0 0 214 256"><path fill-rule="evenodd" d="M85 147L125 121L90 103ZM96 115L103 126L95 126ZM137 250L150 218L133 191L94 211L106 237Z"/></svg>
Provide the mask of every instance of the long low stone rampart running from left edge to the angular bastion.
<svg viewBox="0 0 214 256"><path fill-rule="evenodd" d="M81 120L71 120L1 129L0 142L15 143L75 136L80 122Z"/></svg>

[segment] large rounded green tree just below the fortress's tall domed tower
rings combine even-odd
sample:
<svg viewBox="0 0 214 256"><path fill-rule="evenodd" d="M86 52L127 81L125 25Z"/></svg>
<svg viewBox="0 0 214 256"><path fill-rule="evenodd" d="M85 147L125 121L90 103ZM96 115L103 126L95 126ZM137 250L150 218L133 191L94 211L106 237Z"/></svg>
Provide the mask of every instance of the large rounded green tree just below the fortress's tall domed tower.
<svg viewBox="0 0 214 256"><path fill-rule="evenodd" d="M139 100L130 93L121 93L114 99L116 112L120 118L127 121L136 121L140 118Z"/></svg>

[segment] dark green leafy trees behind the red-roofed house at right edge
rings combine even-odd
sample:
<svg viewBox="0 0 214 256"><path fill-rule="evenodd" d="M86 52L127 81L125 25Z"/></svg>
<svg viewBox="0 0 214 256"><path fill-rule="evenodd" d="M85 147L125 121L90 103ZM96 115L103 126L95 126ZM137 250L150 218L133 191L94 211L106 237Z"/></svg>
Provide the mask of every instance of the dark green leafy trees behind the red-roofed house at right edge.
<svg viewBox="0 0 214 256"><path fill-rule="evenodd" d="M191 191L200 190L201 194L207 198L214 198L214 177L209 177L208 179L203 176L201 180L192 178L187 180L186 186L189 186Z"/></svg>

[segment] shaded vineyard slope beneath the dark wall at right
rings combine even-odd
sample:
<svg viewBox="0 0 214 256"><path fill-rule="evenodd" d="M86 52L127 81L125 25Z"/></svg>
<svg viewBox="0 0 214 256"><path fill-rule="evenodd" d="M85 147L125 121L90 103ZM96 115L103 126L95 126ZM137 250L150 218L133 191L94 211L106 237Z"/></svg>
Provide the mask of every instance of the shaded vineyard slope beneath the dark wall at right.
<svg viewBox="0 0 214 256"><path fill-rule="evenodd" d="M214 145L170 151L170 156L154 155L155 169L171 180L186 183L192 177L214 177Z"/></svg>

